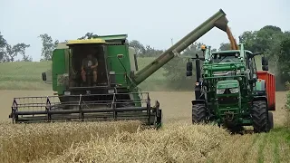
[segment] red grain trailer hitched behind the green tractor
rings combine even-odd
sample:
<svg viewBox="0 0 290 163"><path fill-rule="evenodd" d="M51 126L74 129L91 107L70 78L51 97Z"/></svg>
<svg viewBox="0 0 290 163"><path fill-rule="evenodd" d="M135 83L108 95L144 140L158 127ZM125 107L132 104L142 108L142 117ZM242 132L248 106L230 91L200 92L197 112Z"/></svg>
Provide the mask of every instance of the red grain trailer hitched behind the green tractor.
<svg viewBox="0 0 290 163"><path fill-rule="evenodd" d="M258 79L266 82L266 98L268 101L268 110L275 110L275 75L266 71L257 72Z"/></svg>

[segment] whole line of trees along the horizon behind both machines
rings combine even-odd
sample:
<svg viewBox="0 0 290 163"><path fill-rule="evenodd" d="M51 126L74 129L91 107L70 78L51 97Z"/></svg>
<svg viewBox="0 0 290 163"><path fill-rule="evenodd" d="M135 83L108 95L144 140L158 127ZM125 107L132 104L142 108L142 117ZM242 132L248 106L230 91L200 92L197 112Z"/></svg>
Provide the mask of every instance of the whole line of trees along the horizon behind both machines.
<svg viewBox="0 0 290 163"><path fill-rule="evenodd" d="M98 34L87 33L78 39L90 39L97 36ZM40 34L39 38L43 44L41 61L49 61L52 59L53 50L59 41L53 40L48 34ZM266 25L259 30L246 31L240 34L238 40L239 43L245 43L247 50L253 53L266 54L269 58L270 72L275 72L277 83L290 81L290 31L283 32L278 26ZM144 45L138 40L131 40L129 44L136 49L139 57L157 57L164 52L164 50L155 49L150 45ZM201 44L192 43L181 53L181 56L194 56L196 53L200 53L199 47ZM26 43L11 45L6 42L4 36L0 33L0 62L15 62L14 58L18 55L22 56L20 61L32 61L32 57L25 54L25 50L29 47L30 45ZM218 49L213 49L213 51L229 49L229 43L220 43ZM168 84L176 89L188 88L189 84L192 85L192 79L185 75L186 62L187 59L176 57L163 67L165 69L164 75L169 79ZM285 88L284 85L282 87Z"/></svg>

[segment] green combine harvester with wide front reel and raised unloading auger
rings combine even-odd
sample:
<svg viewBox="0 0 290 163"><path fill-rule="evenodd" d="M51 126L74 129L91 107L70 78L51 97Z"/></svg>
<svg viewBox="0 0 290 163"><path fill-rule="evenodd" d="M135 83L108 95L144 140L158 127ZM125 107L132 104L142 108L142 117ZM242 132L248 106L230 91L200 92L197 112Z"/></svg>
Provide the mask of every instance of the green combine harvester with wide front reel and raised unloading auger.
<svg viewBox="0 0 290 163"><path fill-rule="evenodd" d="M139 72L136 53L129 47L126 34L60 43L52 59L55 96L14 98L9 117L15 123L140 120L159 128L162 122L160 103L156 101L152 107L149 93L141 92L137 86L215 26L226 32L231 40L227 22L226 14L220 9ZM82 59L88 53L99 61L98 82L94 85L91 84L93 72L87 73L87 82L82 83ZM47 81L46 73L42 75L43 81Z"/></svg>

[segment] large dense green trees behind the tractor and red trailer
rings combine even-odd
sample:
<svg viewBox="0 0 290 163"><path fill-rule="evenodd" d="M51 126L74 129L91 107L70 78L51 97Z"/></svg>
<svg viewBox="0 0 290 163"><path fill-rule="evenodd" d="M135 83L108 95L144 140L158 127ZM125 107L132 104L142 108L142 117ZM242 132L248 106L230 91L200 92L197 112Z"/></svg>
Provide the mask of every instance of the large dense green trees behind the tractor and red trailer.
<svg viewBox="0 0 290 163"><path fill-rule="evenodd" d="M274 72L276 76L276 89L285 89L284 83L287 79L287 64L285 60L285 47L288 32L282 32L280 27L266 25L258 31L247 31L239 36L240 43L246 44L246 49L253 53L264 53L269 58L269 72ZM281 59L282 57L283 59Z"/></svg>

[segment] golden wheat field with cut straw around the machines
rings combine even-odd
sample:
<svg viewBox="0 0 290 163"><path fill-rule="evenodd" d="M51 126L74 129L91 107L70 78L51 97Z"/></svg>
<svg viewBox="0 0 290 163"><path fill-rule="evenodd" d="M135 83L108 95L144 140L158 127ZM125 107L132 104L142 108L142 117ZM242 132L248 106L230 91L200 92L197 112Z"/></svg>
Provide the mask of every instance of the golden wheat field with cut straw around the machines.
<svg viewBox="0 0 290 163"><path fill-rule="evenodd" d="M286 92L276 92L275 129L230 135L226 129L190 124L192 92L150 92L160 101L163 129L138 121L13 125L7 119L14 96L51 91L0 91L0 162L287 162Z"/></svg>

